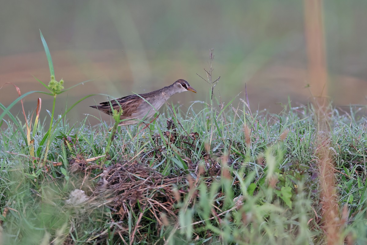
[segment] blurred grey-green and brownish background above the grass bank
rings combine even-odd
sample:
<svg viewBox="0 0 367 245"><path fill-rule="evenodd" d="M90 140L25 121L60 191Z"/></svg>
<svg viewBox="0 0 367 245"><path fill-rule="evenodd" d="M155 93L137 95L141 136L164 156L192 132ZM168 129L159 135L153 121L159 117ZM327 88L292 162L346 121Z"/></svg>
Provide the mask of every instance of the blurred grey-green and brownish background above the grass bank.
<svg viewBox="0 0 367 245"><path fill-rule="evenodd" d="M323 2L328 95L335 105L366 104L367 1ZM188 108L190 101L208 101L206 76L214 48L215 95L237 107L245 83L252 109L279 112L287 104L307 103L308 57L302 0L201 1L2 1L0 8L0 84L11 82L24 94L44 90L33 78L49 81L41 29L54 62L56 79L70 87L93 80L58 97L57 113L87 94L122 97L159 89L177 79L197 91L171 100ZM26 98L26 110L50 109L51 98ZM17 98L9 84L0 102ZM73 122L106 96L83 101L69 114ZM14 108L13 113L20 107ZM46 115L46 114L45 114ZM110 120L108 115L103 120ZM93 121L92 123L96 123Z"/></svg>

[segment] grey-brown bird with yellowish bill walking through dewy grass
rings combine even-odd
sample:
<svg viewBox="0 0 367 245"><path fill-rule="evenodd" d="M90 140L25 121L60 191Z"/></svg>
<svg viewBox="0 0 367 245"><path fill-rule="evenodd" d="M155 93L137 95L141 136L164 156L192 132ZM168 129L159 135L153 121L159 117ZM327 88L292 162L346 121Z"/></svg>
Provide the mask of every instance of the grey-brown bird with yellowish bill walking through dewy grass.
<svg viewBox="0 0 367 245"><path fill-rule="evenodd" d="M143 119L151 118L172 95L185 91L197 93L187 81L178 79L170 86L150 93L132 94L101 102L99 105L91 105L90 107L96 108L108 115L112 115L113 110L117 110L117 112L122 110L120 116L121 122L118 126L134 125Z"/></svg>

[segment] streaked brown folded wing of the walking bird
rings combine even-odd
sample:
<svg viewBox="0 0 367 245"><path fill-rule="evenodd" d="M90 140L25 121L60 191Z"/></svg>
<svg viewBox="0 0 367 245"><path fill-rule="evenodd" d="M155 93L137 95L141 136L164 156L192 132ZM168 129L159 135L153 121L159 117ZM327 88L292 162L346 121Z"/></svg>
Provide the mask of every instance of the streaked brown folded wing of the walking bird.
<svg viewBox="0 0 367 245"><path fill-rule="evenodd" d="M121 118L130 118L131 115L136 112L139 105L144 100L137 96L136 94L129 95L122 98L116 98L110 101L99 103L97 106L92 106L93 108L97 108L100 111L103 111L106 114L112 115L112 109L115 109L117 111L120 111L120 109L123 110L123 113L121 115Z"/></svg>

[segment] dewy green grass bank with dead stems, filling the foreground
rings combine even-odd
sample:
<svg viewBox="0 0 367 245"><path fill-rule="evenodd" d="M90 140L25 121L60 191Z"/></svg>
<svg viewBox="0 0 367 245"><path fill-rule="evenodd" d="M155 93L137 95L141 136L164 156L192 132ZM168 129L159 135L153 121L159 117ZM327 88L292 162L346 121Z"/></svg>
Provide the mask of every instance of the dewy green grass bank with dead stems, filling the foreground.
<svg viewBox="0 0 367 245"><path fill-rule="evenodd" d="M10 116L0 134L1 242L325 244L317 110L252 114L245 98L211 101L172 105L138 134L87 118L70 126L74 104L33 128L33 157L27 126L1 105L1 119ZM328 123L339 236L366 244L366 118L330 109ZM66 202L76 192L84 202Z"/></svg>

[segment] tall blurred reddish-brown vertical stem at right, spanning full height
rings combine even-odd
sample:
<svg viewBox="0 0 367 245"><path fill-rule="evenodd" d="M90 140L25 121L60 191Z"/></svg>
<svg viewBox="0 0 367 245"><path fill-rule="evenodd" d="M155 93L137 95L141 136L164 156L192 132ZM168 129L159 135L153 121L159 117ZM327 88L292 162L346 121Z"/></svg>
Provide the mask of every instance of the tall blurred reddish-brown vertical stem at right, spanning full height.
<svg viewBox="0 0 367 245"><path fill-rule="evenodd" d="M322 0L304 0L305 37L307 42L308 72L314 97L317 125L316 156L319 159L320 201L326 244L342 244L341 216L335 188L333 152L330 151L330 115L327 100L327 66L325 56Z"/></svg>

